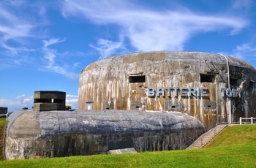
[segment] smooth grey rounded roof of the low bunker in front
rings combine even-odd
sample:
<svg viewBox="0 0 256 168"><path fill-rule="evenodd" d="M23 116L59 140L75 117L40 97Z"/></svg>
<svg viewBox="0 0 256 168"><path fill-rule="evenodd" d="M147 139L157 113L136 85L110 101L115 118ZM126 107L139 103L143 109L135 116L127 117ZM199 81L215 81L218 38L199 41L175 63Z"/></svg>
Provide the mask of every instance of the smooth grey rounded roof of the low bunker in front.
<svg viewBox="0 0 256 168"><path fill-rule="evenodd" d="M181 112L131 110L74 110L15 112L8 120L7 136L37 137L56 134L109 134L203 128L203 124ZM19 115L18 115L19 114Z"/></svg>

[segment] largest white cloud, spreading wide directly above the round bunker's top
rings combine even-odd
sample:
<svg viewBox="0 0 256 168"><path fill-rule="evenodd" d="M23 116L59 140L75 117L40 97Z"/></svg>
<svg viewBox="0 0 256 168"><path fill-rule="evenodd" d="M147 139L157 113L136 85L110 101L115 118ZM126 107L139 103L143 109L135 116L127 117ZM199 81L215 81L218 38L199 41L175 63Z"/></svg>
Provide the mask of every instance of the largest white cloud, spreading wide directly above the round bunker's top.
<svg viewBox="0 0 256 168"><path fill-rule="evenodd" d="M138 51L183 50L184 43L194 34L222 30L229 30L230 35L238 34L248 24L236 15L199 14L184 7L156 11L129 1L115 0L66 0L62 13L66 18L75 16L96 24L116 24L121 30L118 33L129 39ZM106 57L114 51L112 46L118 47L108 39L102 47L94 48Z"/></svg>

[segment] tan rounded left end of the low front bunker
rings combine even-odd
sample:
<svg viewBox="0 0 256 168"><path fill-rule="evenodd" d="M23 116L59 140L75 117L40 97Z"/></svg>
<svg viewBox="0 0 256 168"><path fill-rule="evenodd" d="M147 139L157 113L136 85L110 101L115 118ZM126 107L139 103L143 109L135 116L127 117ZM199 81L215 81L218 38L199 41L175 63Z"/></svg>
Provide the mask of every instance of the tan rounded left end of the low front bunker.
<svg viewBox="0 0 256 168"><path fill-rule="evenodd" d="M10 118L5 143L6 159L26 159L41 136L37 112L24 112ZM26 147L26 148L25 148Z"/></svg>

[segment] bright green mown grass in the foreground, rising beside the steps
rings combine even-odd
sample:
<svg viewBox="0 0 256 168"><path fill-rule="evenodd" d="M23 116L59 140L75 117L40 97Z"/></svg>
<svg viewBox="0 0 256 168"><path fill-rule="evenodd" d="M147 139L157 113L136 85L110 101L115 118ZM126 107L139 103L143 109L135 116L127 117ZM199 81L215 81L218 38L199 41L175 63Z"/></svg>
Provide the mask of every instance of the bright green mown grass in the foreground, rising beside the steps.
<svg viewBox="0 0 256 168"><path fill-rule="evenodd" d="M256 167L256 125L228 126L200 150L0 161L0 167Z"/></svg>

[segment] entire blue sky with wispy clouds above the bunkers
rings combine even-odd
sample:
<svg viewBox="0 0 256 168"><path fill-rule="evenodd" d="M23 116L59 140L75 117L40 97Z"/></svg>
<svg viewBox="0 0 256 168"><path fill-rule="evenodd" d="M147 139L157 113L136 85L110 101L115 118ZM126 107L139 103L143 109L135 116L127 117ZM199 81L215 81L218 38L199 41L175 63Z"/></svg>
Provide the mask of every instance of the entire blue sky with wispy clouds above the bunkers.
<svg viewBox="0 0 256 168"><path fill-rule="evenodd" d="M256 67L255 18L253 0L1 0L0 107L65 91L76 109L83 68L127 53L222 53Z"/></svg>

